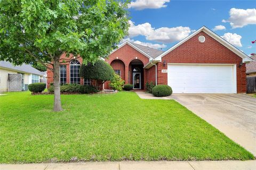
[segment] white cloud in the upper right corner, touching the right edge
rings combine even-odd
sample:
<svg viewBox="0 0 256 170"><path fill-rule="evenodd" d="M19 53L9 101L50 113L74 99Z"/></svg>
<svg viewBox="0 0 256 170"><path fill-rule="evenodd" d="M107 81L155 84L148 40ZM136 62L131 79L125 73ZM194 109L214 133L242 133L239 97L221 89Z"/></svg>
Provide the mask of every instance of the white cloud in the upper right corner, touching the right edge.
<svg viewBox="0 0 256 170"><path fill-rule="evenodd" d="M222 22L229 22L232 28L242 28L248 24L256 24L256 8L247 10L231 8L229 15L229 19L222 20Z"/></svg>

